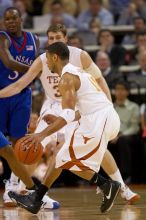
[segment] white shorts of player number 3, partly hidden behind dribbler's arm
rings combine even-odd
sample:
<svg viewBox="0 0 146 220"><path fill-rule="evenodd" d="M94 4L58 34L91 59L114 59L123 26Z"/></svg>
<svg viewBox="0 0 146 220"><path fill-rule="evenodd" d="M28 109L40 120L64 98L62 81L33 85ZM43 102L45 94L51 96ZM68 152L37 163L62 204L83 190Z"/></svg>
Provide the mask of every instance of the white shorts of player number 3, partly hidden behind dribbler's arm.
<svg viewBox="0 0 146 220"><path fill-rule="evenodd" d="M43 103L43 106L41 108L40 111L40 117L38 119L38 124L37 124L37 128L35 130L35 133L39 133L42 130L44 130L46 127L48 127L48 124L43 120L43 117L47 114L52 114L55 116L59 116L60 112L62 110L61 107L61 103L60 102L50 102L50 100L45 100L45 102ZM61 129L60 131L46 137L41 144L43 145L43 147L45 148L47 144L51 143L51 142L61 142L64 140L64 128Z"/></svg>

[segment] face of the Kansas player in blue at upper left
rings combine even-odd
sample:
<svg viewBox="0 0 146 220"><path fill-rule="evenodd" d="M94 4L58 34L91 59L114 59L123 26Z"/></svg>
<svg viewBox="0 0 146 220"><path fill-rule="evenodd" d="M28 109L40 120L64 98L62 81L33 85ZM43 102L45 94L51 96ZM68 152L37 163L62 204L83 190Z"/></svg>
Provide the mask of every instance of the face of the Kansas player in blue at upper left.
<svg viewBox="0 0 146 220"><path fill-rule="evenodd" d="M21 30L21 17L17 10L10 10L5 13L4 25L6 30L12 34Z"/></svg>

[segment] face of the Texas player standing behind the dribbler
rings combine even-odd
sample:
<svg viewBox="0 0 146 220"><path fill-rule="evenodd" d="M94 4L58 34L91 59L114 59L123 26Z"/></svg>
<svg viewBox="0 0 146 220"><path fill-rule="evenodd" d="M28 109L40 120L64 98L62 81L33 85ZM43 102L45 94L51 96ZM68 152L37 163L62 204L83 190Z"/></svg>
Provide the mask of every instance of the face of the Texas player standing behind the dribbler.
<svg viewBox="0 0 146 220"><path fill-rule="evenodd" d="M64 34L59 32L48 32L48 45L51 45L56 42L67 43L67 37Z"/></svg>

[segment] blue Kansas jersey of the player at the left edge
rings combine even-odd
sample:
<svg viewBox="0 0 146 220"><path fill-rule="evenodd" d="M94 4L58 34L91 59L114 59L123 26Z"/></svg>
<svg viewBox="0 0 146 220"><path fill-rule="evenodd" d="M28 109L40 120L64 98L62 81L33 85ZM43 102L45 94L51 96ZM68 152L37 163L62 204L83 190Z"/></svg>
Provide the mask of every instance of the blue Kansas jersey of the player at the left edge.
<svg viewBox="0 0 146 220"><path fill-rule="evenodd" d="M23 32L21 37L11 36L8 32L0 31L9 41L9 51L12 57L23 64L31 65L36 57L35 38L30 32ZM22 73L8 69L0 60L0 89L17 81Z"/></svg>

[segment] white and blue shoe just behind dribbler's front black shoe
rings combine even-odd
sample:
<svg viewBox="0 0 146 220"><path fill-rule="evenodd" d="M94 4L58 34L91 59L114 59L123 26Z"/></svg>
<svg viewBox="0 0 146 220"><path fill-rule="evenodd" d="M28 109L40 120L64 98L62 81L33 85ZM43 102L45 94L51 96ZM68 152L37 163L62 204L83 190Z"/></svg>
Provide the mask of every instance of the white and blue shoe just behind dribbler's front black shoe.
<svg viewBox="0 0 146 220"><path fill-rule="evenodd" d="M43 204L41 208L44 209L58 209L60 208L60 203L51 199L48 195L44 195L43 199Z"/></svg>

